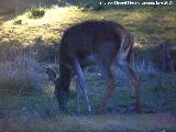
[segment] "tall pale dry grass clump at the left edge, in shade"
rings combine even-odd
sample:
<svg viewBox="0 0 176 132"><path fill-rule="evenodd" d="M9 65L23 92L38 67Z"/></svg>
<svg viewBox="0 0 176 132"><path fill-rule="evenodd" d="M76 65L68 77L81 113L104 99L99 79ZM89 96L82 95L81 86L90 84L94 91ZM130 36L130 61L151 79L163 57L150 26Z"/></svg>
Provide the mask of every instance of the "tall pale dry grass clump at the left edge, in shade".
<svg viewBox="0 0 176 132"><path fill-rule="evenodd" d="M40 67L32 53L20 48L0 51L0 94L28 94L36 86ZM9 54L8 54L9 53Z"/></svg>

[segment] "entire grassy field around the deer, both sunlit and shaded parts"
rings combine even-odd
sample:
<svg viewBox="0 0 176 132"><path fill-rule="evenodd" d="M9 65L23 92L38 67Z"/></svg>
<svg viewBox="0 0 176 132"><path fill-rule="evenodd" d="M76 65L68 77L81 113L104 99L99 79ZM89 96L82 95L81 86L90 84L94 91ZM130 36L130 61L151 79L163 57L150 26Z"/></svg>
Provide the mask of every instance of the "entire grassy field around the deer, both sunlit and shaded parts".
<svg viewBox="0 0 176 132"><path fill-rule="evenodd" d="M9 14L0 14L0 131L64 131L72 128L129 132L176 130L174 7L107 7L99 6L97 0L59 0L63 8L58 8L52 7L48 0L44 2L50 6L38 4L38 8L11 19L7 19ZM66 2L78 6L78 9L65 7ZM45 68L50 66L58 70L56 53L65 29L95 19L122 23L134 34L133 66L141 76L144 116L133 114L134 91L116 64L112 69L117 89L106 114L85 116L81 102L82 112L79 117L73 116L74 81L68 116L58 111ZM97 68L88 70L86 85L90 105L95 108L106 90L103 77Z"/></svg>

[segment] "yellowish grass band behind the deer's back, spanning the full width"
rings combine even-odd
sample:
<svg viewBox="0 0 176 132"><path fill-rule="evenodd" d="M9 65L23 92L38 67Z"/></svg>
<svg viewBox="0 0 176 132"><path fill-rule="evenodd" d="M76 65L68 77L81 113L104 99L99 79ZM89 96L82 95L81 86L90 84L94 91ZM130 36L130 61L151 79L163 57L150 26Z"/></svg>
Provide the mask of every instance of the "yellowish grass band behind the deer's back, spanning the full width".
<svg viewBox="0 0 176 132"><path fill-rule="evenodd" d="M41 19L30 19L29 12L15 18L22 24L13 24L13 20L1 25L0 34L3 40L18 40L23 43L33 43L36 35L42 35L46 42L61 38L63 31L86 20L113 20L122 23L135 36L139 43L158 44L165 40L175 42L175 9L174 8L139 8L139 9L109 9L102 11L84 10L76 7L53 7L45 11ZM167 30L167 32L165 32ZM38 32L40 31L40 32ZM154 40L157 40L155 42Z"/></svg>

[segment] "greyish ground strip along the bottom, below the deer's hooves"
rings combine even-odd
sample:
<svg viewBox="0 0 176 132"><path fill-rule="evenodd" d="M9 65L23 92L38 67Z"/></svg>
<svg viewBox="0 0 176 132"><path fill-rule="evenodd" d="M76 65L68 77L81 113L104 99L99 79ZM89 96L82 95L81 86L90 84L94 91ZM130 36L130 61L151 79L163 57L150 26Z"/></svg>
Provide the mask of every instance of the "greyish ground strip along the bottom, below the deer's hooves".
<svg viewBox="0 0 176 132"><path fill-rule="evenodd" d="M16 117L0 119L1 132L24 131L110 131L110 132L175 132L176 114L106 114L106 116L80 116L80 117L43 117L30 119Z"/></svg>

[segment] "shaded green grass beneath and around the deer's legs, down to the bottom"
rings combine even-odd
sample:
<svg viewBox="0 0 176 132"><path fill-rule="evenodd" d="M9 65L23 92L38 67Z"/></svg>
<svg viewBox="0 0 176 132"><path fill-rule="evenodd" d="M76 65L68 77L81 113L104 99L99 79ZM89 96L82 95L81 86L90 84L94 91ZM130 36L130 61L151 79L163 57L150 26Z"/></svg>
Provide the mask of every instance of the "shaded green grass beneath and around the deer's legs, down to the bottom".
<svg viewBox="0 0 176 132"><path fill-rule="evenodd" d="M119 77L118 74L116 73L117 88L109 101L108 113L106 114L92 113L86 116L81 100L80 116L75 117L73 113L74 95L68 105L69 112L67 114L61 113L56 98L53 95L53 84L45 82L45 87L41 86L43 92L40 94L1 96L0 129L3 127L3 130L7 131L148 132L166 130L174 132L176 129L174 114L176 111L176 81L173 80L173 77L175 76L168 74L141 74L144 114L138 116L133 110L135 107L134 91L130 88L125 77ZM160 77L162 76L163 79L161 80ZM46 75L44 75L45 77ZM163 84L162 86L161 82ZM174 84L170 85L172 82ZM103 78L98 76L98 72L88 73L86 84L90 105L95 110L106 91L106 85ZM70 87L73 89L75 87L74 84Z"/></svg>

